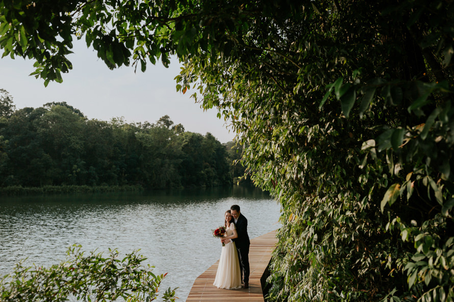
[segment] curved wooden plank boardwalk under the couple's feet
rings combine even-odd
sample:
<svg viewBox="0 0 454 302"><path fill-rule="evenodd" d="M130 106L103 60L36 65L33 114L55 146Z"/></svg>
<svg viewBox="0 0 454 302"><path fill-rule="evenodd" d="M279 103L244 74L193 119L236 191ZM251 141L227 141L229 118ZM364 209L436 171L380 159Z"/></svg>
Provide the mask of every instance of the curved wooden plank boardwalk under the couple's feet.
<svg viewBox="0 0 454 302"><path fill-rule="evenodd" d="M250 240L248 289L219 289L213 286L218 260L195 279L186 302L264 302L262 286L265 280L262 276L277 242L276 231Z"/></svg>

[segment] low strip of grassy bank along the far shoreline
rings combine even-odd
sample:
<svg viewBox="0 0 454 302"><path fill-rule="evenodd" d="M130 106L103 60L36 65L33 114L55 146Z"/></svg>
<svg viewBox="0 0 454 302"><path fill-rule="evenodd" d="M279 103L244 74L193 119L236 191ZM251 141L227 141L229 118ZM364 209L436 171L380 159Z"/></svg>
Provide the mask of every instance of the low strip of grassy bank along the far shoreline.
<svg viewBox="0 0 454 302"><path fill-rule="evenodd" d="M0 187L0 196L103 193L142 190L143 187L141 185L117 185L117 186L46 185L42 187L7 186Z"/></svg>

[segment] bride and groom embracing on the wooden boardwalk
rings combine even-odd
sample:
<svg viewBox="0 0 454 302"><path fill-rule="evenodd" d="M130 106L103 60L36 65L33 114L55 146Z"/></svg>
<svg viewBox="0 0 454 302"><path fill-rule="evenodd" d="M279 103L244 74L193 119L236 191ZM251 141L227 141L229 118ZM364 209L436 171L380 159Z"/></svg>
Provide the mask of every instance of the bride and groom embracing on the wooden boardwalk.
<svg viewBox="0 0 454 302"><path fill-rule="evenodd" d="M213 285L218 288L249 288L249 236L247 219L238 205L225 212L226 236Z"/></svg>

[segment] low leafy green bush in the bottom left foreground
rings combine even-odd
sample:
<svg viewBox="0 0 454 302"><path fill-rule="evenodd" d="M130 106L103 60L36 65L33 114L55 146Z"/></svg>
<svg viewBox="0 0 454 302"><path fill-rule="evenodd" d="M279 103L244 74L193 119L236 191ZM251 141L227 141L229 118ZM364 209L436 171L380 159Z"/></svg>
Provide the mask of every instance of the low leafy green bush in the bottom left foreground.
<svg viewBox="0 0 454 302"><path fill-rule="evenodd" d="M51 267L23 267L18 263L13 273L0 280L0 297L5 302L67 301L153 301L166 274L155 275L152 266L136 252L118 259L118 251L84 255L81 245L69 248L68 260ZM175 289L168 289L162 298L174 302Z"/></svg>

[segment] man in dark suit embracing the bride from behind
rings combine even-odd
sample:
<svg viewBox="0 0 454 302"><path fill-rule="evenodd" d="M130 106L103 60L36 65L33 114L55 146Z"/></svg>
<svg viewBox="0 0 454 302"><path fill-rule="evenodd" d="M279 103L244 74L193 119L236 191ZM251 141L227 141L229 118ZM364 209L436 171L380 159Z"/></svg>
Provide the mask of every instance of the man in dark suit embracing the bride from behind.
<svg viewBox="0 0 454 302"><path fill-rule="evenodd" d="M235 226L238 233L238 238L232 239L235 242L240 260L242 287L249 288L249 236L247 235L247 219L240 212L238 205L230 207Z"/></svg>

